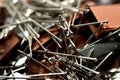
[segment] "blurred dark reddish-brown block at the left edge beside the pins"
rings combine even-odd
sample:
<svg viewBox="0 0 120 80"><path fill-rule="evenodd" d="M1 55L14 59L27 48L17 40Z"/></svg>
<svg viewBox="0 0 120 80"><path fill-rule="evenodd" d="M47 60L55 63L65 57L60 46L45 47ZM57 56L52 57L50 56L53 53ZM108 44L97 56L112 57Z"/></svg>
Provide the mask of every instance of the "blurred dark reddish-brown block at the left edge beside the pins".
<svg viewBox="0 0 120 80"><path fill-rule="evenodd" d="M19 43L20 39L13 33L10 33L6 39L0 41L0 60L5 58L9 52Z"/></svg>

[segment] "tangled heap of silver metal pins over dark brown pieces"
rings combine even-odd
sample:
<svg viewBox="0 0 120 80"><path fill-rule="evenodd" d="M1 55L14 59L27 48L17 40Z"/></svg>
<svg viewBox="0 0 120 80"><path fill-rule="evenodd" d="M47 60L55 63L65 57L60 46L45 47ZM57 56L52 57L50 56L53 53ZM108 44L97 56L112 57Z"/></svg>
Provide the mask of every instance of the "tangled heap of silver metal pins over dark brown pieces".
<svg viewBox="0 0 120 80"><path fill-rule="evenodd" d="M0 80L114 80L119 68L108 63L118 55L120 29L96 38L108 21L83 23L84 2L4 0L0 45L11 34L19 40L0 58ZM89 25L98 28L92 33ZM0 46L0 57L4 52Z"/></svg>

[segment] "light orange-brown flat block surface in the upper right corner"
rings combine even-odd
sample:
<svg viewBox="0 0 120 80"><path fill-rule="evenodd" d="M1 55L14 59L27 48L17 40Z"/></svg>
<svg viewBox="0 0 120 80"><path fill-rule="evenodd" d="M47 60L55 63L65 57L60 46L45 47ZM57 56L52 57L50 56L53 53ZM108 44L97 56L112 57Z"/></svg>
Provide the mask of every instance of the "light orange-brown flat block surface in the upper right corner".
<svg viewBox="0 0 120 80"><path fill-rule="evenodd" d="M98 21L108 19L108 28L120 26L120 4L91 6L90 9Z"/></svg>

